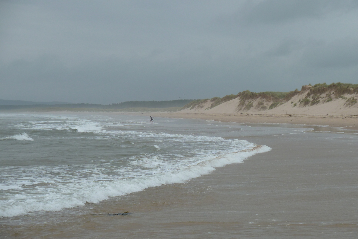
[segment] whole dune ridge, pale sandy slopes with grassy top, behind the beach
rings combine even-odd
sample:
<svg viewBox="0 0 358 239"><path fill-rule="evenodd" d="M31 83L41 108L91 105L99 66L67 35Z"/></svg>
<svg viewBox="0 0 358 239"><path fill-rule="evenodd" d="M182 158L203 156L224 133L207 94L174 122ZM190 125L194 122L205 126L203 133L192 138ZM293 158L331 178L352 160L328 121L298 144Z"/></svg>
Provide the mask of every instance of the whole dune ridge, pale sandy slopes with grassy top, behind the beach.
<svg viewBox="0 0 358 239"><path fill-rule="evenodd" d="M305 85L291 92L243 91L237 95L193 101L182 113L207 114L358 114L358 87L352 84ZM277 94L281 93L281 95ZM280 97L281 96L281 97Z"/></svg>

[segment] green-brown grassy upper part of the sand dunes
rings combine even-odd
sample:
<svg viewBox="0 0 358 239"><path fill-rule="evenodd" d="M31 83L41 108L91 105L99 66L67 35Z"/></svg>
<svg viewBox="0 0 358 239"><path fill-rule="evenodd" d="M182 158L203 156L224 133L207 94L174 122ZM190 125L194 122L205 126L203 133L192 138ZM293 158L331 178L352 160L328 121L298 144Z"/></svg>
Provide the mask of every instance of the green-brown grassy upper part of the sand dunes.
<svg viewBox="0 0 358 239"><path fill-rule="evenodd" d="M242 91L237 95L227 95L222 98L214 97L212 99L195 100L185 105L185 110L211 110L214 107L223 105L230 101L231 107L235 107L233 112L243 111L265 111L290 102L291 107L305 107L317 104L323 104L332 100L344 100L344 107L351 107L357 103L358 84L351 83L326 83L302 86L301 90L290 92L251 92ZM226 104L228 105L228 103Z"/></svg>

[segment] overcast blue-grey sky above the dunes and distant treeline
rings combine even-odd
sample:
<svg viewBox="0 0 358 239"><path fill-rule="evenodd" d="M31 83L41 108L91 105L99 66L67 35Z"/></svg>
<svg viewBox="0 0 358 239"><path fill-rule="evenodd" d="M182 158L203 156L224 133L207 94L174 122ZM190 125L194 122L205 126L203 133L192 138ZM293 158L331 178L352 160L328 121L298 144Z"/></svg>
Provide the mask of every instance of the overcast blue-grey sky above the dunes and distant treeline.
<svg viewBox="0 0 358 239"><path fill-rule="evenodd" d="M111 104L358 83L358 0L0 1L0 99Z"/></svg>

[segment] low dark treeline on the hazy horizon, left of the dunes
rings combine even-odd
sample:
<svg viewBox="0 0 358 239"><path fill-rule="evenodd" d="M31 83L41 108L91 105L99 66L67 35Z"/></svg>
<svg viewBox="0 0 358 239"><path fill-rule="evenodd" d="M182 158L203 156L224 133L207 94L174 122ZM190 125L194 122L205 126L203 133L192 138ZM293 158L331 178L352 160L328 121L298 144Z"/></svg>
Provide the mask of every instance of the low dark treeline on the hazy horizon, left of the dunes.
<svg viewBox="0 0 358 239"><path fill-rule="evenodd" d="M193 100L164 100L164 101L125 101L118 104L100 105L100 104L55 104L51 107L61 108L95 108L95 109L125 109L125 108L168 108L183 107ZM29 109L29 108L45 108L48 104L38 105L0 105L2 110Z"/></svg>

